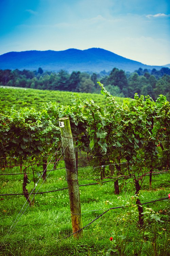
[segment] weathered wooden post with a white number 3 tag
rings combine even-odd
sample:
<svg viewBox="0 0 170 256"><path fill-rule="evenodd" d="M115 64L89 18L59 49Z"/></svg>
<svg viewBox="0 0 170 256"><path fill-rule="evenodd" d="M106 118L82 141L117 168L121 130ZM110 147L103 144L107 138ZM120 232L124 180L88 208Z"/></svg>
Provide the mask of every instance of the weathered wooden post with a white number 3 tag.
<svg viewBox="0 0 170 256"><path fill-rule="evenodd" d="M82 215L80 205L78 172L76 167L73 139L69 118L63 117L59 119L62 145L64 151L64 161L66 166L68 193L70 199L71 222L73 233L79 231L82 226ZM74 234L78 238L82 235L83 230Z"/></svg>

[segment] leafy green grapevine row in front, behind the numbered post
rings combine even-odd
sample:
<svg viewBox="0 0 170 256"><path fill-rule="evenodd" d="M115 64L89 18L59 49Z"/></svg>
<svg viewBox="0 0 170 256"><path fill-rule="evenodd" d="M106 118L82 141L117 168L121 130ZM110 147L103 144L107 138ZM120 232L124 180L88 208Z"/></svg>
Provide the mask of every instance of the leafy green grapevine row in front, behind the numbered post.
<svg viewBox="0 0 170 256"><path fill-rule="evenodd" d="M73 94L72 106L47 103L39 112L34 108L19 111L11 108L1 114L1 168L4 169L8 159L14 156L18 156L15 161L20 165L30 159L47 163L47 156L54 154L60 143L58 118L69 117L75 146L90 153L90 159L92 156L94 178L115 179L118 194L118 177L133 177L135 194L139 195L145 176L150 174L151 188L153 169L169 170L170 103L163 95L154 102L149 95L135 94L134 99L126 99L119 105L103 84L99 82L99 85L105 97L105 109L92 99L82 102ZM46 166L43 164L44 170ZM139 198L136 204L142 226L143 209Z"/></svg>

